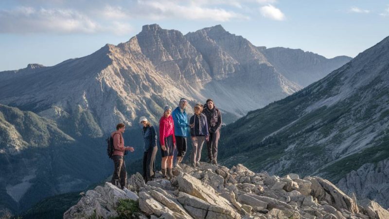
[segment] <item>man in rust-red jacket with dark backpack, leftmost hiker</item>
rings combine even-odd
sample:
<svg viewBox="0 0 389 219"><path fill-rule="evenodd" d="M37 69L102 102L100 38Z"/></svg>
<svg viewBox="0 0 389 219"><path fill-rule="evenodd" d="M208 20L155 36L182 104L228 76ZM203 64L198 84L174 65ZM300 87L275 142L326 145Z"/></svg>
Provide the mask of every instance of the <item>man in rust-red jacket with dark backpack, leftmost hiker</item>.
<svg viewBox="0 0 389 219"><path fill-rule="evenodd" d="M112 174L111 183L123 189L125 187L125 183L127 182L127 171L125 170L124 163L124 151L129 150L131 152L134 151L133 147L125 147L124 139L122 133L124 133L125 125L123 123L119 123L116 126L116 131L112 132L111 137L113 138L113 154L112 160L115 165L115 170ZM119 181L119 183L118 183Z"/></svg>

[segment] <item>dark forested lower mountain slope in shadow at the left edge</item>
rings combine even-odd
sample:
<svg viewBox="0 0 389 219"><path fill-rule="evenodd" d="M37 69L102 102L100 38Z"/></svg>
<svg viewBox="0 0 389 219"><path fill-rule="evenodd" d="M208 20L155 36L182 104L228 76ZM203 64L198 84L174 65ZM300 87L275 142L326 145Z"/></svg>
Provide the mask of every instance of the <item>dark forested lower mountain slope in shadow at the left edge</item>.
<svg viewBox="0 0 389 219"><path fill-rule="evenodd" d="M33 112L0 105L0 133L5 135L0 144L2 208L22 211L45 197L78 191L109 175L111 163L102 159L102 139L76 140L59 126Z"/></svg>

